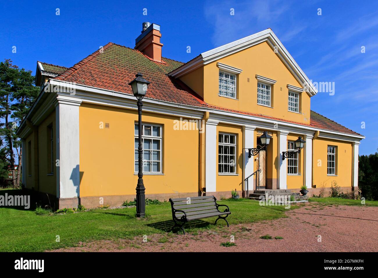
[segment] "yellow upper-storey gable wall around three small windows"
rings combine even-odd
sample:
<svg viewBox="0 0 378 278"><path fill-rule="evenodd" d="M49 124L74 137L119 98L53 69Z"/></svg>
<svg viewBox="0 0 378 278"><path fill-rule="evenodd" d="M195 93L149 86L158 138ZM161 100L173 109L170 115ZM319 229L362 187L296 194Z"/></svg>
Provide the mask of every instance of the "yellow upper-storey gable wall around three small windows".
<svg viewBox="0 0 378 278"><path fill-rule="evenodd" d="M243 70L237 75L237 99L218 95L219 68L217 62ZM256 75L277 81L271 86L273 99L271 106L273 108L257 104ZM249 78L249 82L247 78ZM303 86L299 84L266 42L204 65L180 79L199 95L203 95L204 101L215 106L274 116L299 123L310 122L310 96L307 93L300 94L301 113L288 111L287 84ZM203 86L201 82L203 82Z"/></svg>

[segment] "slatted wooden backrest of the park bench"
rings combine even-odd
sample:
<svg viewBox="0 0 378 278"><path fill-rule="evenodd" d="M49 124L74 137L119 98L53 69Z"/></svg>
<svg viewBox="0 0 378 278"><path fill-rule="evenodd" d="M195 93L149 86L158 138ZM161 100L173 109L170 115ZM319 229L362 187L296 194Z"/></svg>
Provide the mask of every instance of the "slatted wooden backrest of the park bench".
<svg viewBox="0 0 378 278"><path fill-rule="evenodd" d="M184 215L181 211L185 211L186 215L199 215L204 213L217 212L216 199L214 196L184 197L169 199L172 206L173 216L180 218Z"/></svg>

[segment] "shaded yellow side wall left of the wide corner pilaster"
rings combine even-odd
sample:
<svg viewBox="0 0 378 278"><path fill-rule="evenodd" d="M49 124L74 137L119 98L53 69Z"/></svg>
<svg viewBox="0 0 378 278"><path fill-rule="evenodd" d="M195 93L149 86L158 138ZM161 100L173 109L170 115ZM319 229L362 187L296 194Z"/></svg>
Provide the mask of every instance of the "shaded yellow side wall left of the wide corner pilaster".
<svg viewBox="0 0 378 278"><path fill-rule="evenodd" d="M56 164L54 173L48 169L48 145L47 140L50 134L47 133L47 126L53 126L53 161L56 161L56 117L55 110L40 123L38 127L38 152L39 152L39 191L56 195ZM26 160L27 161L27 160Z"/></svg>

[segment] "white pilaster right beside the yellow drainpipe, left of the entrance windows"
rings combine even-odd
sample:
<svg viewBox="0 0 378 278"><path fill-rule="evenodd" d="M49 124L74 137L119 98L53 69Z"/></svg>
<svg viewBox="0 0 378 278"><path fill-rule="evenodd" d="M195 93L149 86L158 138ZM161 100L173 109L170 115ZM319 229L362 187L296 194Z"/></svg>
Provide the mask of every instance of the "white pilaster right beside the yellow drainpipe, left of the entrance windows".
<svg viewBox="0 0 378 278"><path fill-rule="evenodd" d="M217 191L217 125L218 121L206 122L205 186L206 192Z"/></svg>

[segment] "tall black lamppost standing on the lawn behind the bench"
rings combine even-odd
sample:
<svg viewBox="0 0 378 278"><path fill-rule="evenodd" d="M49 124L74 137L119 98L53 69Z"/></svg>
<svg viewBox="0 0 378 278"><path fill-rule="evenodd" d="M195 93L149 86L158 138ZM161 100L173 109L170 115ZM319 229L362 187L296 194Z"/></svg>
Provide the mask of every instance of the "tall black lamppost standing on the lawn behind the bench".
<svg viewBox="0 0 378 278"><path fill-rule="evenodd" d="M136 96L138 105L138 184L136 185L136 217L144 217L146 214L146 200L144 191L146 188L143 184L143 157L142 157L142 99L146 95L147 86L150 84L144 79L141 73L137 73L136 78L129 83L133 89L133 94Z"/></svg>

